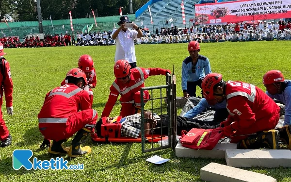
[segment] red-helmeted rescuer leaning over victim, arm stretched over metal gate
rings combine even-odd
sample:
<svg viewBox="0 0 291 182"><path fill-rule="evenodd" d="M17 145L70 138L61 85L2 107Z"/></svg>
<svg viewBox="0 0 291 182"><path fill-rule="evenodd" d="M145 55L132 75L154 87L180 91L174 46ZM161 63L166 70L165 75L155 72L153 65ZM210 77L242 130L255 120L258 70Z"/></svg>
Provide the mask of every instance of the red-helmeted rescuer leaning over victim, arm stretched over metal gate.
<svg viewBox="0 0 291 182"><path fill-rule="evenodd" d="M153 75L166 75L170 70L162 68L142 68L131 66L126 60L118 60L114 65L115 81L110 87L108 101L101 117L108 117L120 94L121 111L120 116L125 117L139 113L141 109L142 87L145 87L145 80ZM148 91L144 92L144 99L150 99Z"/></svg>

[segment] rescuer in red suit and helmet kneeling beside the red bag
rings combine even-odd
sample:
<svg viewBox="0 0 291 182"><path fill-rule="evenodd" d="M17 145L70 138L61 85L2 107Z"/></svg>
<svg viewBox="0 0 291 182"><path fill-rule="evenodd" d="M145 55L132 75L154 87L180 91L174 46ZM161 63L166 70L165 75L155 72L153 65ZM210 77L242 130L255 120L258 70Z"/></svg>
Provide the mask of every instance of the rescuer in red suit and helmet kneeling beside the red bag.
<svg viewBox="0 0 291 182"><path fill-rule="evenodd" d="M261 89L249 83L225 82L221 74L210 73L202 81L202 90L211 104L226 99L229 116L220 126L231 143L244 149L278 147L279 132L273 129L279 121L280 107Z"/></svg>

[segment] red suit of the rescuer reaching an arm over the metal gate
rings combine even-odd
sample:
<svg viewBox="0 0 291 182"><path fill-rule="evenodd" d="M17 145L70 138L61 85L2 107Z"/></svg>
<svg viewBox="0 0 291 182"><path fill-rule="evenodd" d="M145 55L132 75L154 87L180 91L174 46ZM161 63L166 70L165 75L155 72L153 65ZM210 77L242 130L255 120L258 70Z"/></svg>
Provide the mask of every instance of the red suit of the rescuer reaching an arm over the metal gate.
<svg viewBox="0 0 291 182"><path fill-rule="evenodd" d="M108 101L101 117L108 117L113 109L113 106L120 94L121 111L120 116L125 117L133 115L135 108L141 108L141 93L142 87L145 87L145 80L153 75L165 75L169 70L162 68L142 68L135 67L130 69L129 82L122 84L117 79L110 87ZM148 91L144 92L144 99L150 99Z"/></svg>

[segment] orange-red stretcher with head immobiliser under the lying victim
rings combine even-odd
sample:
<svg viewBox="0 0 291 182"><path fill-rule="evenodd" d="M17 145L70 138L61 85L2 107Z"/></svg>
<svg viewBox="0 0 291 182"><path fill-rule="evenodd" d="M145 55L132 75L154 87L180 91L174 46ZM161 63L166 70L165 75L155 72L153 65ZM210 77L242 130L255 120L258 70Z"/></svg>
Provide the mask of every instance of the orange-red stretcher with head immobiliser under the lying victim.
<svg viewBox="0 0 291 182"><path fill-rule="evenodd" d="M131 137L124 137L121 136L120 129L121 129L121 116L118 116L116 119L113 120L111 123L106 122L106 117L102 118L102 125L101 125L101 136L92 137L92 140L95 142L142 142L142 137L138 138L131 138ZM145 141L150 143L158 142L162 139L165 139L168 135L161 134L153 134L149 135L145 138Z"/></svg>

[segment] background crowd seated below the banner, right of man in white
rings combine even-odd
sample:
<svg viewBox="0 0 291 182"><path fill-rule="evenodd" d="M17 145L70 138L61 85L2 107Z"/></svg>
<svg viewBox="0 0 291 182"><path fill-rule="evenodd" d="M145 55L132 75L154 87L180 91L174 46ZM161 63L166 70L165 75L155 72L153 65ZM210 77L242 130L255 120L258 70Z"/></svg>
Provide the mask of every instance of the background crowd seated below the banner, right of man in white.
<svg viewBox="0 0 291 182"><path fill-rule="evenodd" d="M178 29L177 26L170 28L156 29L151 36L144 33L144 36L136 40L136 44L170 44L189 43L190 41L204 42L225 42L225 41L261 41L261 40L291 40L291 22L278 21L260 22L254 24L228 24L192 26L191 28Z"/></svg>

